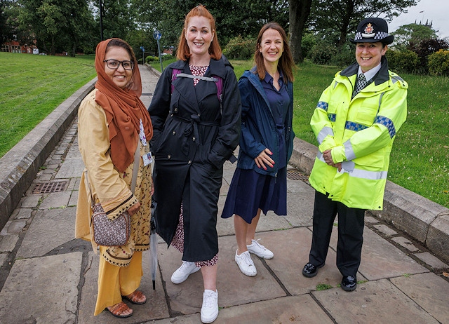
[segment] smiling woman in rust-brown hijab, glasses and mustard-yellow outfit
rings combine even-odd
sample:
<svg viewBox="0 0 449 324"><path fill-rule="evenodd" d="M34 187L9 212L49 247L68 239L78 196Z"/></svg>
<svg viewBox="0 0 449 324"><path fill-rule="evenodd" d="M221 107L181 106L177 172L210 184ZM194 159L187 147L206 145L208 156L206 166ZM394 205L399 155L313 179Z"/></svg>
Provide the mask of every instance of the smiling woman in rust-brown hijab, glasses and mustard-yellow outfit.
<svg viewBox="0 0 449 324"><path fill-rule="evenodd" d="M78 142L86 169L81 176L76 238L93 241L91 203L100 202L110 220L130 214L131 232L121 246L100 246L98 297L94 315L107 310L119 318L144 304L138 290L142 278L142 251L149 249L149 220L152 174L144 158L139 159L137 183L130 190L135 151L147 156L152 138L152 123L145 104L139 99L142 82L133 49L121 39L98 43L95 53L98 81L79 107ZM140 144L138 145L138 141Z"/></svg>

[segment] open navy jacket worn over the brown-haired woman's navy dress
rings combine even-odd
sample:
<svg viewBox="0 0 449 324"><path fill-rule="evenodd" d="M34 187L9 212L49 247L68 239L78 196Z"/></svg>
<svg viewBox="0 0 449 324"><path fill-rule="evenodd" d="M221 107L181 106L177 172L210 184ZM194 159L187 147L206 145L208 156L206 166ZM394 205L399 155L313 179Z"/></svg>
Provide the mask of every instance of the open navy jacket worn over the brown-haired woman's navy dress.
<svg viewBox="0 0 449 324"><path fill-rule="evenodd" d="M241 137L240 151L237 168L253 169L263 175L276 176L279 165L279 134L276 131L276 121L269 106L259 76L255 74L255 68L245 71L239 79L241 95ZM293 139L295 133L292 129L293 121L293 83L287 83L287 92L290 97L286 118L286 153L287 161L293 151ZM267 166L267 170L258 168L254 159L265 147L272 151L274 160L273 168Z"/></svg>

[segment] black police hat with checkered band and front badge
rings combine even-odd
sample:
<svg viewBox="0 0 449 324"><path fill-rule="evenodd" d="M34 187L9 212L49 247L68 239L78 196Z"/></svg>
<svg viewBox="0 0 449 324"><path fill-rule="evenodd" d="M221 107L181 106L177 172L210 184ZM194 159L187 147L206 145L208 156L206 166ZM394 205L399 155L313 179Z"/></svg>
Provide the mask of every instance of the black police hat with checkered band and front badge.
<svg viewBox="0 0 449 324"><path fill-rule="evenodd" d="M391 44L394 36L388 34L388 25L382 18L366 18L357 26L356 36L351 43L375 43L380 41Z"/></svg>

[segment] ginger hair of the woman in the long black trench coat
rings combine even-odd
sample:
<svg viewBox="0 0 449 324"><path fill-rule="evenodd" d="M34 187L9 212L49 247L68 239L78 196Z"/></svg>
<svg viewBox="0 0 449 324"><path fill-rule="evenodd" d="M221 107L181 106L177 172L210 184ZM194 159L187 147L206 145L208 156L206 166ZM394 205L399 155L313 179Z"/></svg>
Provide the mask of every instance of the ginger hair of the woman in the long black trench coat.
<svg viewBox="0 0 449 324"><path fill-rule="evenodd" d="M206 9L205 6L201 4L193 8L185 16L184 29L182 29L180 36L180 43L177 46L176 58L178 60L187 61L187 59L190 58L190 56L192 56L192 54L190 53L189 46L187 45L187 39L185 39L185 30L187 29L189 19L195 16L205 17L210 21L210 28L212 28L212 31L215 33L212 39L212 43L210 43L209 46L210 58L213 58L214 60L220 60L220 58L222 57L222 48L218 43L217 31L215 28L215 18L213 18L213 15Z"/></svg>

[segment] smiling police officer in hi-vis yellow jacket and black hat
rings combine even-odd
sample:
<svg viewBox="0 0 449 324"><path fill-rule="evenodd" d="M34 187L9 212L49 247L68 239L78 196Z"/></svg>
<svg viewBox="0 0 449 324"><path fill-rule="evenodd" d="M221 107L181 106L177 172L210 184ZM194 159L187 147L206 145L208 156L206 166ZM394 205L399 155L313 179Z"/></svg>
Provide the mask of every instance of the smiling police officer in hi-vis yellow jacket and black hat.
<svg viewBox="0 0 449 324"><path fill-rule="evenodd" d="M306 277L324 266L338 215L337 268L343 290L356 289L365 211L382 210L389 156L406 121L408 84L388 70L394 36L382 18L362 20L354 39L356 63L321 94L311 118L319 144L309 182L316 190Z"/></svg>

